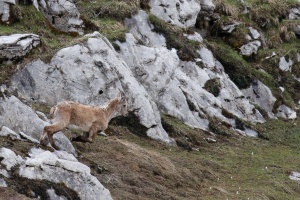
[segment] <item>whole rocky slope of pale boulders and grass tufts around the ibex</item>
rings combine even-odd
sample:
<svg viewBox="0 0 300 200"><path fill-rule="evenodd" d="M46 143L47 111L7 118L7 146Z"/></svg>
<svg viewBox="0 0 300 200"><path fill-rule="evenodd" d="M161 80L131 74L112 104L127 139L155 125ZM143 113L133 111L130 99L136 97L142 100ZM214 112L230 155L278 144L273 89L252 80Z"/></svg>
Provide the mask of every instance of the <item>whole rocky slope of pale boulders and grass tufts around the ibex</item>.
<svg viewBox="0 0 300 200"><path fill-rule="evenodd" d="M169 135L173 128L162 116L209 134L207 141L219 140L218 134L258 136L255 124L295 119L300 3L277 3L2 2L1 135L38 143L51 106L62 100L102 105L119 89L130 119L115 123L167 145L187 142ZM30 17L45 29L23 26ZM78 149L66 136L55 140L62 153L32 148L25 158L2 148L2 185L13 174L55 188L64 184L73 198L111 199L89 167L72 157ZM54 172L61 177L49 175ZM49 189L33 196L47 196Z"/></svg>

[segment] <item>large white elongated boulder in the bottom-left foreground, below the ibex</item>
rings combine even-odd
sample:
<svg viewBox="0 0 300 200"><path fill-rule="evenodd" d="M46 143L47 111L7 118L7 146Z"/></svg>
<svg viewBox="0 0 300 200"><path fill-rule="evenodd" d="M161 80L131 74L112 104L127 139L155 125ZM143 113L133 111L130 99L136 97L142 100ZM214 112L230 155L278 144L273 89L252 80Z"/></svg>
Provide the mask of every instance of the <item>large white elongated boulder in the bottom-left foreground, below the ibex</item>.
<svg viewBox="0 0 300 200"><path fill-rule="evenodd" d="M68 155L59 158L55 153L35 148L30 151L30 158L20 166L19 175L62 183L75 191L80 199L111 200L110 192L90 174L90 168L75 161L73 155Z"/></svg>

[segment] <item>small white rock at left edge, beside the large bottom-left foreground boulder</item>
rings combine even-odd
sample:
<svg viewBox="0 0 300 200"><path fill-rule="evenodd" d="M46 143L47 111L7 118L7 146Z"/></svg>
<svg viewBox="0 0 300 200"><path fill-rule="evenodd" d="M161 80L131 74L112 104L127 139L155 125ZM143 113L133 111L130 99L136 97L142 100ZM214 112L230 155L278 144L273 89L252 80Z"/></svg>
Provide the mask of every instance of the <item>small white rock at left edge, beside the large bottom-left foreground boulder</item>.
<svg viewBox="0 0 300 200"><path fill-rule="evenodd" d="M6 167L7 170L11 170L12 167L24 162L21 156L17 156L15 152L7 148L0 149L1 164Z"/></svg>

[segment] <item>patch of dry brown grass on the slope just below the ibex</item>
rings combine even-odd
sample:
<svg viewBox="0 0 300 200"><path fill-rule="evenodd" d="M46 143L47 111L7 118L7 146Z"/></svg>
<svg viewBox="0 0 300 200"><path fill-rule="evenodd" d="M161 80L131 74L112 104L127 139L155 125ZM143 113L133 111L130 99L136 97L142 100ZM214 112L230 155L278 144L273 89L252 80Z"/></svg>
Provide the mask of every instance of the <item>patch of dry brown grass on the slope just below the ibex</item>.
<svg viewBox="0 0 300 200"><path fill-rule="evenodd" d="M181 157L175 153L182 152L178 147L140 138L124 127L111 127L109 134L94 144L73 144L114 199L201 199L200 188L208 188L205 180L215 179L214 170L220 170L215 163Z"/></svg>

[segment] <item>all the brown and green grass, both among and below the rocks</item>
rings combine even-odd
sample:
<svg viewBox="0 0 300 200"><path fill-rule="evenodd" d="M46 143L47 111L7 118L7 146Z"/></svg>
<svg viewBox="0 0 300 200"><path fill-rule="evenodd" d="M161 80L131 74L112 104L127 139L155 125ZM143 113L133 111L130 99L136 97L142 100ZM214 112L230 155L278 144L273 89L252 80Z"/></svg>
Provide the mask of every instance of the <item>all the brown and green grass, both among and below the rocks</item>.
<svg viewBox="0 0 300 200"><path fill-rule="evenodd" d="M124 41L128 30L123 18L140 8L147 10L146 2L76 1L87 25L86 33L99 31L111 42ZM183 36L183 33L192 33L192 29L175 27L151 14L149 20L154 30L166 37L167 48L176 48L182 60L198 57L197 49L206 45L240 89L248 88L254 79L259 79L277 98L275 112L282 103L296 108L300 99L300 84L295 79L300 77L299 61L296 61L300 43L292 30L299 25L299 20L288 20L287 10L299 3L295 0L244 2L248 14L241 14L244 7L239 1L215 1L220 19L211 24L210 36L203 44L190 42ZM18 61L19 67L33 59L49 62L59 49L85 40L82 36L55 31L33 6L18 5L14 12L17 21L11 26L1 25L0 35L35 33L42 41L24 60ZM221 23L233 20L241 24L231 35L219 32ZM263 46L256 55L245 58L238 48L245 43L244 34L250 26L263 33ZM266 59L273 52L276 55ZM282 56L295 61L290 71L282 72L278 68ZM9 83L19 67L0 66L0 85ZM284 92L280 86L285 88ZM207 82L205 89L218 96L218 80ZM32 107L49 112L46 105ZM226 110L222 113L230 114ZM114 119L107 130L109 136L97 136L93 144L73 142L80 161L91 167L93 175L111 191L114 199L297 199L300 196L299 183L288 178L291 171L299 171L299 119L268 119L265 124L252 125L259 132L259 138L250 138L238 135L214 119L209 125L212 134L192 129L173 117L162 116L163 127L176 140L177 147L145 137L147 129L137 124L137 119L130 119ZM71 134L66 132L68 136ZM27 156L33 144L0 138L0 146ZM22 183L31 184L29 180ZM10 184L18 183L13 180ZM51 186L46 182L41 184ZM14 188L28 196L25 186ZM64 189L62 187L60 194L66 194ZM9 197L13 192L8 189L0 193ZM72 194L72 191L67 193Z"/></svg>

